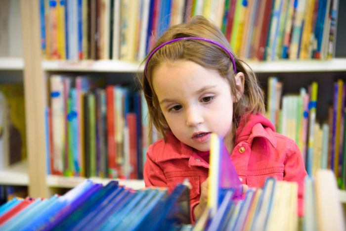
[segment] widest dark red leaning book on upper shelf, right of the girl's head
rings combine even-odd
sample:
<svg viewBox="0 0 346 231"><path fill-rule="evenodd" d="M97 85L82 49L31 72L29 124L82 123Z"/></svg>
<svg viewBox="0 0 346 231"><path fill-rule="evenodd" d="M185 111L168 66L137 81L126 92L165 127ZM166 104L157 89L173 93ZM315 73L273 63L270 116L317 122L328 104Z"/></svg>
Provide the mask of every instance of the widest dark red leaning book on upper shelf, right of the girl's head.
<svg viewBox="0 0 346 231"><path fill-rule="evenodd" d="M260 35L259 36L259 46L257 49L257 58L259 60L264 59L264 51L265 51L265 46L266 46L267 40L268 40L268 31L269 31L269 26L270 26L272 8L273 8L273 0L267 0L265 2L262 27L260 28L260 33L259 33L259 35Z"/></svg>

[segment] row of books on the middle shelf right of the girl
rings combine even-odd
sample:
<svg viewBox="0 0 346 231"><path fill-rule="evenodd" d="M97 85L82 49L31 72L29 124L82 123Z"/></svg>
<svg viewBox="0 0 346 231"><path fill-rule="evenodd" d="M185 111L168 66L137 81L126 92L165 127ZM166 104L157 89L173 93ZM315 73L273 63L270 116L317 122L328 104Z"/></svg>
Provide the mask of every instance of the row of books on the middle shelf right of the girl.
<svg viewBox="0 0 346 231"><path fill-rule="evenodd" d="M311 176L317 169L332 169L342 189L346 187L345 86L341 79L334 83L328 122L320 124L316 121L316 82L308 91L302 88L299 94L282 95L282 83L277 77L270 77L266 113L278 133L296 141L307 173Z"/></svg>

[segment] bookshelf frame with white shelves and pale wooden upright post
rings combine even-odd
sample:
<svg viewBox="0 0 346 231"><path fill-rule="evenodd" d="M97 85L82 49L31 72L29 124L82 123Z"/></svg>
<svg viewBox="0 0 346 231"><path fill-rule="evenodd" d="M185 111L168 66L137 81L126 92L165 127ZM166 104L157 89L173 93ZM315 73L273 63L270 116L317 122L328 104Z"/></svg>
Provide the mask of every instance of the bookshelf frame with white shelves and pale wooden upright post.
<svg viewBox="0 0 346 231"><path fill-rule="evenodd" d="M47 73L68 72L107 72L126 73L129 78L133 73L143 70L139 62L119 60L82 60L61 61L43 60L40 47L39 1L21 0L21 20L23 35L23 58L0 58L0 70L16 70L24 73L24 88L27 123L27 162L19 163L13 168L0 172L0 184L28 185L29 194L33 197L49 197L50 188L72 188L84 181L85 178L64 178L46 175L45 127L44 109L47 104ZM273 73L303 72L307 79L312 79L316 72L346 73L346 58L331 60L279 60L256 62L248 64L255 72L266 76ZM328 76L321 78L327 79ZM308 80L310 81L310 80ZM299 79L296 84L305 84L306 80ZM7 176L7 178L6 178ZM11 176L8 178L8 176ZM92 178L95 182L106 184L108 179ZM144 186L141 180L125 181L120 184L134 189ZM339 190L339 198L346 203L346 191Z"/></svg>

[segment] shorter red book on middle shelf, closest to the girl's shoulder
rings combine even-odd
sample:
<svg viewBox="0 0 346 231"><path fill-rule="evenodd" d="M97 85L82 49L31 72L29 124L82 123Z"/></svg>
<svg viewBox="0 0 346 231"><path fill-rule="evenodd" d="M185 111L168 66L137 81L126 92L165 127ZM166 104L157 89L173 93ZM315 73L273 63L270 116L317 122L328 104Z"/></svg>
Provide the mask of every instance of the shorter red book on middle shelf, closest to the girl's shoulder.
<svg viewBox="0 0 346 231"><path fill-rule="evenodd" d="M130 147L130 179L138 179L137 172L137 125L136 114L128 113L126 121L129 128L129 147Z"/></svg>

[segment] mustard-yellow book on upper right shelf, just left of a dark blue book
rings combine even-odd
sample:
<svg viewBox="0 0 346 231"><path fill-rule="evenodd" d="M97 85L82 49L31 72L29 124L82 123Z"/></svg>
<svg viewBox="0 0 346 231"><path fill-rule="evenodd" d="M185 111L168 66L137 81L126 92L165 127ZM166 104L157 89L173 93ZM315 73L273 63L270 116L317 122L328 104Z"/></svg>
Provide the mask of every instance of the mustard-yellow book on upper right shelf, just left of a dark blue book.
<svg viewBox="0 0 346 231"><path fill-rule="evenodd" d="M305 6L305 14L304 14L304 27L303 27L303 35L301 42L301 51L299 57L301 59L310 58L308 56L308 50L310 46L310 36L311 36L311 28L312 28L312 18L313 18L313 10L314 10L315 0L307 0Z"/></svg>

